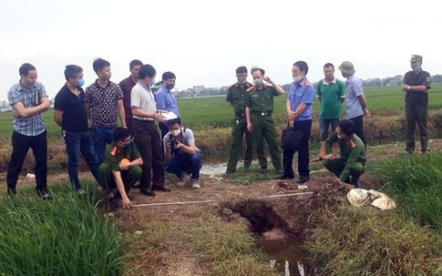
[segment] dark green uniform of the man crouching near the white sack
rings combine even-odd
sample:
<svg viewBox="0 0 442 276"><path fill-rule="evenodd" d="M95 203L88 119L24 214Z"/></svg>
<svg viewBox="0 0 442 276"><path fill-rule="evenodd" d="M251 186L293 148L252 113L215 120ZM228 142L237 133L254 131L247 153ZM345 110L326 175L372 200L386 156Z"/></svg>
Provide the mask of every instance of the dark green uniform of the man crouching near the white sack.
<svg viewBox="0 0 442 276"><path fill-rule="evenodd" d="M345 168L341 172L339 179L344 181L350 173L350 169L356 162L362 163L365 166L365 146L361 138L358 138L355 134L350 137L348 142L344 139L338 138L336 132L327 138L326 140L327 152L332 151L332 145L334 142L338 143L341 158L345 161Z"/></svg>

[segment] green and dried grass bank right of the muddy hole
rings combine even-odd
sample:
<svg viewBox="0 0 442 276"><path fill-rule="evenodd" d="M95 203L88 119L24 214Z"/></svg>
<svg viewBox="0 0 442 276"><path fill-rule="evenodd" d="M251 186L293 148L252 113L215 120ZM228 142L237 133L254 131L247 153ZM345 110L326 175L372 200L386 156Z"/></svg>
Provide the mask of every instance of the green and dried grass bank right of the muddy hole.
<svg viewBox="0 0 442 276"><path fill-rule="evenodd" d="M320 275L441 275L442 157L401 155L369 172L397 210L319 210L308 248Z"/></svg>

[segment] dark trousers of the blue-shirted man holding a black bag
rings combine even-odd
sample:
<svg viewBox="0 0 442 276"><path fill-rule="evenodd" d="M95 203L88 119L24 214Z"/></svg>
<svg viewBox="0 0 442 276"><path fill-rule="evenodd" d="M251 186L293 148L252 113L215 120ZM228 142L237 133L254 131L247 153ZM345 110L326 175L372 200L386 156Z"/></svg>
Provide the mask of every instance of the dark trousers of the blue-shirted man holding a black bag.
<svg viewBox="0 0 442 276"><path fill-rule="evenodd" d="M295 122L294 129L303 132L301 149L298 152L298 173L300 177L310 177L310 148L308 142L310 139L310 131L312 129L312 120ZM284 175L286 177L294 177L293 156L293 150L283 149L283 167Z"/></svg>

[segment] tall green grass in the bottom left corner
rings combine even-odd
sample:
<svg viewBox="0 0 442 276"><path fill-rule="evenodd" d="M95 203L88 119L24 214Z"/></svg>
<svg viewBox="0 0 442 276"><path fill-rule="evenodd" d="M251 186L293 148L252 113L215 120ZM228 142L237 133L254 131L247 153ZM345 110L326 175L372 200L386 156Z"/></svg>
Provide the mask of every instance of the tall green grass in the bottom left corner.
<svg viewBox="0 0 442 276"><path fill-rule="evenodd" d="M120 275L121 240L98 216L93 192L83 198L67 183L51 188L54 200L33 189L0 200L0 275Z"/></svg>

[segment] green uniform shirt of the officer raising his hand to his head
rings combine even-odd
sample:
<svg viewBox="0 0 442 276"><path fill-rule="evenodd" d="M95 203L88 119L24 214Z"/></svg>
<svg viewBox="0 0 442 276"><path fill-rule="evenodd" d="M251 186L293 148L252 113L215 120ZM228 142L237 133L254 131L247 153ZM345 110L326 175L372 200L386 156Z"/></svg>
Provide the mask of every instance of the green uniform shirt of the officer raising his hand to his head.
<svg viewBox="0 0 442 276"><path fill-rule="evenodd" d="M267 85L264 85L262 89L254 87L247 93L245 106L251 108L251 111L273 112L273 97L278 95L275 87Z"/></svg>

